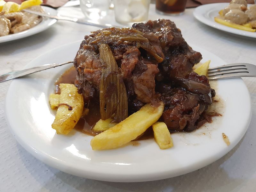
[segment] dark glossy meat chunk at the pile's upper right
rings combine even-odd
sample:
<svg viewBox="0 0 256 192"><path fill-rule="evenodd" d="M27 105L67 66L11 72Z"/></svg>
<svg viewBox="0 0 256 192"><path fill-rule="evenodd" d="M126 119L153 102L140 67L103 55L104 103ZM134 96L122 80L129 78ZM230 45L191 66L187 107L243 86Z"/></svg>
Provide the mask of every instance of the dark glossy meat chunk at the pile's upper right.
<svg viewBox="0 0 256 192"><path fill-rule="evenodd" d="M133 24L134 28L144 33L154 33L158 36L165 60L159 65L162 76L184 77L192 71L192 67L202 59L199 52L194 51L184 40L180 29L170 20L149 20Z"/></svg>

